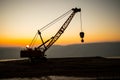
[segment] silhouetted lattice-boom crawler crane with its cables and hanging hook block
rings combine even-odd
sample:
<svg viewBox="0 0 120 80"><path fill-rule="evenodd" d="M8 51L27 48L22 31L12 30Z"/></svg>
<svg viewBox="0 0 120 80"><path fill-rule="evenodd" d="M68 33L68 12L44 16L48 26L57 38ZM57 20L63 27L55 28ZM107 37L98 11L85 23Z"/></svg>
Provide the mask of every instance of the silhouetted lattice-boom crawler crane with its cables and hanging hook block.
<svg viewBox="0 0 120 80"><path fill-rule="evenodd" d="M65 14L63 14L62 16L58 17L57 19L53 20L51 23L47 24L46 26L44 26L42 29L38 30L38 32L36 33L36 35L38 34L40 36L40 39L42 41L42 44L39 45L38 47L35 48L31 48L30 46L32 46L35 37L33 38L31 44L29 47L26 47L25 50L21 50L20 52L20 56L22 58L28 57L30 59L31 62L34 62L35 60L40 60L40 61L46 61L46 57L45 57L45 52L59 39L59 37L64 33L64 31L66 30L66 28L68 27L69 23L71 22L71 20L73 19L74 15L77 12L81 12L81 8L72 8L71 10L69 10L68 12L66 12ZM71 14L70 14L71 13ZM58 32L52 36L50 39L46 40L45 42L43 41L42 35L41 35L41 31L45 30L46 28L48 28L49 26L51 26L52 24L54 24L55 22L59 21L60 19L62 19L63 17L65 17L66 15L70 14L70 16L68 17L68 19L64 22L64 24L61 26L61 28L58 30ZM82 26L81 26L82 27ZM84 32L80 32L80 37L82 38L81 42L84 42L83 38L84 38Z"/></svg>

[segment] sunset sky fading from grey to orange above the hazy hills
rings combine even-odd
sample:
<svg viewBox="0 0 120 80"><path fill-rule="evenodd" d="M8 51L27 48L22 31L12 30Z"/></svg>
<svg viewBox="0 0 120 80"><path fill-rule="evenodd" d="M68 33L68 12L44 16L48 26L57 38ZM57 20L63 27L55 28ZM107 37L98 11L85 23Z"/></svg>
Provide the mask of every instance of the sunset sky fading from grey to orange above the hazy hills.
<svg viewBox="0 0 120 80"><path fill-rule="evenodd" d="M38 29L74 7L82 9L85 43L120 41L120 0L0 0L0 46L29 44ZM55 44L80 43L79 16L75 15ZM44 40L66 19L44 31Z"/></svg>

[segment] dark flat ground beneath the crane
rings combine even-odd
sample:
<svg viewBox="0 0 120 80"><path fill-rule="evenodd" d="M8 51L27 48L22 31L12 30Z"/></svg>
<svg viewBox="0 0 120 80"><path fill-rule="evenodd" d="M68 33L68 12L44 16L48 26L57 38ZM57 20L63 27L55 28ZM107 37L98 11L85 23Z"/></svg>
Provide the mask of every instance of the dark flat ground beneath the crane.
<svg viewBox="0 0 120 80"><path fill-rule="evenodd" d="M49 58L45 63L36 64L28 60L0 62L0 78L50 75L120 78L120 59L79 57Z"/></svg>

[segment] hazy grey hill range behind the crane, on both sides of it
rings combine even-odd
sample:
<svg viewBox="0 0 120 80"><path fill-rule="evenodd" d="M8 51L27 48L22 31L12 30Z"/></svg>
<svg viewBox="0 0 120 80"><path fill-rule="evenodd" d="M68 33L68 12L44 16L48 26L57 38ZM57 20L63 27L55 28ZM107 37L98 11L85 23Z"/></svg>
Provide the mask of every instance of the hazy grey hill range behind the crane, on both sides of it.
<svg viewBox="0 0 120 80"><path fill-rule="evenodd" d="M120 42L109 43L90 43L90 44L73 44L67 46L53 45L46 52L48 58L57 57L119 57ZM17 59L20 58L21 48L0 48L0 59Z"/></svg>

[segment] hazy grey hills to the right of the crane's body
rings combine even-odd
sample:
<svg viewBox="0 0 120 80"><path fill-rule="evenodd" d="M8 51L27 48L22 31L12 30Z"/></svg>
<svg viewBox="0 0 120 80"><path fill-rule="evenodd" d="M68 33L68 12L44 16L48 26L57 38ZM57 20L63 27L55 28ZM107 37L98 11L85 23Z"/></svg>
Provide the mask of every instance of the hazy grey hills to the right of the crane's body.
<svg viewBox="0 0 120 80"><path fill-rule="evenodd" d="M55 45L46 54L48 57L119 57L120 42Z"/></svg>

